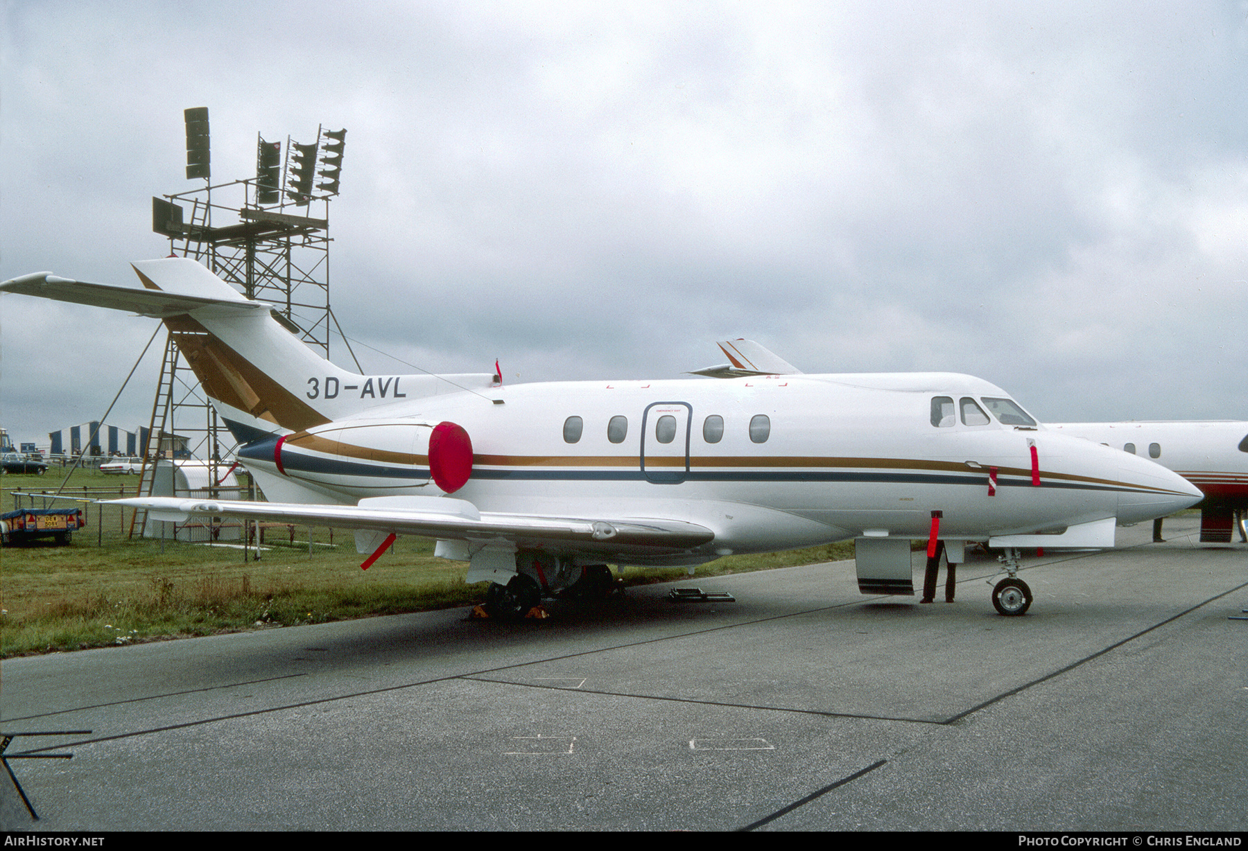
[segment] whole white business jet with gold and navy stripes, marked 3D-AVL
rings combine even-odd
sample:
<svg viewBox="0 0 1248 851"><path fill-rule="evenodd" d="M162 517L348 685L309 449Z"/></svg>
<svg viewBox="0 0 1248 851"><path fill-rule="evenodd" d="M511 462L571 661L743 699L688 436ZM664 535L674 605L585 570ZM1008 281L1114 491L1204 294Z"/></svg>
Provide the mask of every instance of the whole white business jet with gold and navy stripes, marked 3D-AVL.
<svg viewBox="0 0 1248 851"><path fill-rule="evenodd" d="M353 528L363 567L394 535L432 537L469 563L467 581L490 581L498 614L609 588L607 564L693 570L850 538L867 594L914 594L911 539L940 538L951 562L967 542L1001 548L993 603L1022 614L1020 548L1112 547L1116 525L1201 498L1146 458L1046 430L970 376L807 376L753 362L746 341L724 344L731 363L706 372L719 381L359 376L195 261L135 271L144 289L36 273L0 291L163 319L271 502L114 502L165 520Z"/></svg>

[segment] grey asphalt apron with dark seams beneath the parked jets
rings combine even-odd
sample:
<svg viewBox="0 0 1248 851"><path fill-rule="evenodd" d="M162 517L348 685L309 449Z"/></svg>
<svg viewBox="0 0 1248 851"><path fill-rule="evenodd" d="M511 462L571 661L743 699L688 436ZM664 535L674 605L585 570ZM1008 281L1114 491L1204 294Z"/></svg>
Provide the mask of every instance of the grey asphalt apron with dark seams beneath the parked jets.
<svg viewBox="0 0 1248 851"><path fill-rule="evenodd" d="M544 623L466 609L6 660L6 827L1244 830L1248 545L1198 518L996 564L957 601L852 562L671 585ZM921 584L921 554L916 557ZM382 565L378 565L382 567ZM943 575L941 578L943 581ZM10 790L11 791L11 790Z"/></svg>

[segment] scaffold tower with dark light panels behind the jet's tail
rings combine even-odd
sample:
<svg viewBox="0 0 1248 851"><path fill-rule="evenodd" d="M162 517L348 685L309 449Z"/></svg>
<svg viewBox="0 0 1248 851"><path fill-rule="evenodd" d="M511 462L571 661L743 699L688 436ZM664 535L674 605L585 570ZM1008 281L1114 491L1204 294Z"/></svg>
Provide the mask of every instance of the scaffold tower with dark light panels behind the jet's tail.
<svg viewBox="0 0 1248 851"><path fill-rule="evenodd" d="M185 120L186 177L202 178L203 186L154 197L152 231L168 237L171 255L197 260L237 284L247 298L273 304L287 328L328 358L331 324L337 327L329 308L329 201L338 195L347 131L318 126L310 145L287 136L285 167L281 142L257 134L256 177L213 186L208 110L186 110ZM317 183L317 177L323 182ZM236 206L213 203L213 190L218 197L222 191L237 192ZM213 222L215 216L226 215L230 223ZM195 333L170 333L140 493L151 493L154 473L149 474L147 467L155 470L160 437L175 428L191 438L192 453L208 463L215 483L223 478L226 459L233 452L228 433L218 428L216 411L178 354L178 338ZM349 344L347 352L354 358Z"/></svg>

